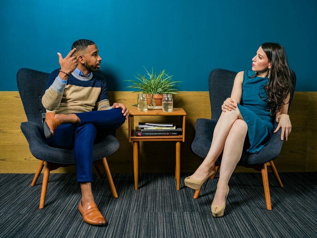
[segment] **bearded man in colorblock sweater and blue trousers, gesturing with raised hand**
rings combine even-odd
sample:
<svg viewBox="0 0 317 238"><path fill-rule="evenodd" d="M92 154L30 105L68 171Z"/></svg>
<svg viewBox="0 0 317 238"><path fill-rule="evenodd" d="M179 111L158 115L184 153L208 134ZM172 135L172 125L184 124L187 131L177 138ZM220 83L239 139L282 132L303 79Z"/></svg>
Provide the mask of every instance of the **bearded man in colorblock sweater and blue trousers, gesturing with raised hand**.
<svg viewBox="0 0 317 238"><path fill-rule="evenodd" d="M50 146L74 148L77 182L82 199L79 211L86 223L107 223L101 215L91 190L93 145L104 130L118 128L128 118L129 111L122 103L111 107L103 76L95 73L101 58L91 40L77 40L63 58L58 54L60 70L53 71L47 81L42 104L44 134ZM102 133L98 133L102 131Z"/></svg>

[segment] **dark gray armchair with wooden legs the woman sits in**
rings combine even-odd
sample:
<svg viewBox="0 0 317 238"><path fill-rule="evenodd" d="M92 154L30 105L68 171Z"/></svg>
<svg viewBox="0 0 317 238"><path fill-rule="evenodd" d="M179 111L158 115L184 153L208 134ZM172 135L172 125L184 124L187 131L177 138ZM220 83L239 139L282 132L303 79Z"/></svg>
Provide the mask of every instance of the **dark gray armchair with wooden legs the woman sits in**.
<svg viewBox="0 0 317 238"><path fill-rule="evenodd" d="M191 144L192 150L198 156L205 158L210 149L213 131L217 124L217 121L222 112L221 105L231 95L231 90L233 87L233 82L236 77L237 72L215 69L210 72L209 75L209 97L211 106L211 119L199 118L195 123L196 136ZM296 84L296 75L291 71L293 88ZM288 105L288 109L291 105L294 95L294 89L291 92L291 97ZM278 123L275 122L274 128L276 128ZM281 140L281 129L273 134L268 145L263 147L259 153L250 154L243 152L241 159L238 163L240 166L254 168L262 172L266 208L272 210L270 191L268 186L268 171L267 166L271 166L271 170L281 187L283 187L280 177L276 171L273 160L280 154L283 141ZM221 163L222 154L218 157L216 163L216 171L218 171ZM216 172L217 173L217 172ZM194 198L198 198L200 189L195 192Z"/></svg>

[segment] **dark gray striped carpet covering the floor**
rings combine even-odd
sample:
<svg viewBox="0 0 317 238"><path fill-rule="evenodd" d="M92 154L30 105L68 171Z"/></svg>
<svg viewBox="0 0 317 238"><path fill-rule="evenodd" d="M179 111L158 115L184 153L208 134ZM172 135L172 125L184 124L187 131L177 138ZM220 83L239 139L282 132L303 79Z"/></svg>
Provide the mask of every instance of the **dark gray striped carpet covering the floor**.
<svg viewBox="0 0 317 238"><path fill-rule="evenodd" d="M214 218L210 204L217 178L198 199L193 190L176 190L173 174L142 173L139 190L133 174L113 174L119 198L107 179L94 175L96 204L107 227L83 222L75 174L51 174L45 208L39 210L42 175L0 174L1 237L316 237L317 173L280 173L284 188L269 174L272 211L266 210L262 176L234 173L225 215Z"/></svg>

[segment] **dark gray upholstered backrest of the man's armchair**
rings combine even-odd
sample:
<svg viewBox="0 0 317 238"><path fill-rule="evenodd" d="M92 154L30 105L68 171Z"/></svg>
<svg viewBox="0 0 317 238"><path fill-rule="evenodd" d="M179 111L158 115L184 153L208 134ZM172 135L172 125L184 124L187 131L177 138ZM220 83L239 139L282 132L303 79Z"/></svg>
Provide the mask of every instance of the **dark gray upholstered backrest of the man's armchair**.
<svg viewBox="0 0 317 238"><path fill-rule="evenodd" d="M49 73L22 68L16 74L16 83L28 121L42 123L42 96L46 90Z"/></svg>

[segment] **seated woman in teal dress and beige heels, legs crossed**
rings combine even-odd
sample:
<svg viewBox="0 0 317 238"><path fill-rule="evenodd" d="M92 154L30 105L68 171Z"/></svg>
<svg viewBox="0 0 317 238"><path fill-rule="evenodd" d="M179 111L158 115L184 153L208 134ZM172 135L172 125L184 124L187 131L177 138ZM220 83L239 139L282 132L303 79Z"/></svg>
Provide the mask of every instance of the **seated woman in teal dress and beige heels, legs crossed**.
<svg viewBox="0 0 317 238"><path fill-rule="evenodd" d="M194 174L185 178L187 187L198 190L215 174L215 162L223 152L217 191L211 204L214 217L223 216L228 182L242 155L242 151L258 153L282 128L281 140L292 130L287 114L292 83L284 48L264 43L252 59L253 71L236 75L231 97L227 98L213 133L210 150Z"/></svg>

